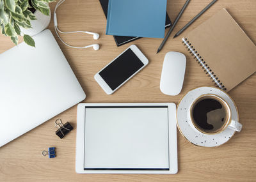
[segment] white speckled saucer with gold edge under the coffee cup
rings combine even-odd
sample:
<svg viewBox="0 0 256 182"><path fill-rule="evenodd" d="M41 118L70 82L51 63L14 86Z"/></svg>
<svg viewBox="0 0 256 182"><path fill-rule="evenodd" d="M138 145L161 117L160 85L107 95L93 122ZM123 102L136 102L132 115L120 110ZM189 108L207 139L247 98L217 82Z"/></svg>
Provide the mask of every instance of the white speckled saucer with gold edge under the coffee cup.
<svg viewBox="0 0 256 182"><path fill-rule="evenodd" d="M211 148L220 146L221 144L227 142L234 135L235 131L227 128L221 133L217 133L215 135L206 135L196 132L193 130L193 128L191 128L188 123L189 106L198 96L208 93L218 95L223 98L228 103L228 105L230 105L232 119L239 121L237 107L232 98L230 98L227 93L216 87L198 87L189 91L177 106L177 126L180 130L180 133L192 144L195 144L196 146Z"/></svg>

